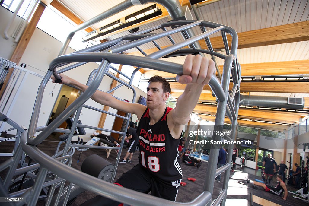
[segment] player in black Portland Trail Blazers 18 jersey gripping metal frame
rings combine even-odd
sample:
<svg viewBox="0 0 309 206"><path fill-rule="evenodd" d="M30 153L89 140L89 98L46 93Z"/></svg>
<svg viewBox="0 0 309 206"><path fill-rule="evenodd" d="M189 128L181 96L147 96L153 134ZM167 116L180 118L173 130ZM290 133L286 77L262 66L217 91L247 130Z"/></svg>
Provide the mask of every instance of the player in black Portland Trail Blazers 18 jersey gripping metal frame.
<svg viewBox="0 0 309 206"><path fill-rule="evenodd" d="M97 90L91 97L94 101L136 114L139 120L139 163L122 174L115 184L135 191L148 193L166 200L175 201L182 171L177 161L178 145L184 125L190 120L205 84L216 71L214 61L201 55L188 55L183 65L183 75L176 79L187 84L182 95L177 99L174 109L165 103L171 93L169 83L162 77L149 79L146 106L132 104L114 98L112 95ZM70 84L85 91L88 87L74 79L60 74L62 83ZM53 82L54 81L54 77ZM83 205L102 206L118 205L114 200L97 196Z"/></svg>

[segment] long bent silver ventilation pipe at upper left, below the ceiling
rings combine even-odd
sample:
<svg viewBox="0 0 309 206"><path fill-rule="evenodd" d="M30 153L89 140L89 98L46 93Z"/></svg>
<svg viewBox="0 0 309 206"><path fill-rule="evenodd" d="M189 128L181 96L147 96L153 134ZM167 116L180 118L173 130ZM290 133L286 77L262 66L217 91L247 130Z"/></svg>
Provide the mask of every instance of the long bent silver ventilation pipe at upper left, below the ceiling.
<svg viewBox="0 0 309 206"><path fill-rule="evenodd" d="M91 25L102 21L103 19L106 19L112 15L119 13L120 11L130 8L131 6L143 5L143 4L152 3L152 2L159 3L162 6L164 6L167 9L167 12L171 16L172 19L177 19L184 15L184 11L178 0L126 0L108 9L107 11L104 11L103 13L95 16L94 18L89 19L88 21L78 25L72 32L70 32L70 34L66 38L66 41L63 43L58 56L61 56L66 53L66 50L69 47L70 41L76 32L82 29L88 28ZM189 36L194 36L194 35L191 32L189 32Z"/></svg>

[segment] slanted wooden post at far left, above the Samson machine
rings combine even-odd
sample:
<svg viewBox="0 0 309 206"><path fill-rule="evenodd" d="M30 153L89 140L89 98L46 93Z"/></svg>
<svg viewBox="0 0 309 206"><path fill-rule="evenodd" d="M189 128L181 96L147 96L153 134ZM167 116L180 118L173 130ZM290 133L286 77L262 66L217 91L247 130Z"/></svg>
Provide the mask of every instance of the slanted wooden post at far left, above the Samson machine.
<svg viewBox="0 0 309 206"><path fill-rule="evenodd" d="M34 32L34 30L36 29L36 25L39 22L44 10L45 10L46 5L42 2L39 3L39 6L36 8L36 11L34 12L31 21L29 22L29 24L27 25L25 31L23 32L23 35L21 36L15 51L10 59L10 61L13 61L16 63L16 65L19 64L19 61L21 59L21 57L23 56L23 53L26 50L26 47L31 39L31 36ZM9 79L11 77L11 75L13 74L14 68L9 69L10 72L7 73L7 76L3 82L3 86L0 90L0 97L2 96L4 89L6 88L6 85L9 82Z"/></svg>

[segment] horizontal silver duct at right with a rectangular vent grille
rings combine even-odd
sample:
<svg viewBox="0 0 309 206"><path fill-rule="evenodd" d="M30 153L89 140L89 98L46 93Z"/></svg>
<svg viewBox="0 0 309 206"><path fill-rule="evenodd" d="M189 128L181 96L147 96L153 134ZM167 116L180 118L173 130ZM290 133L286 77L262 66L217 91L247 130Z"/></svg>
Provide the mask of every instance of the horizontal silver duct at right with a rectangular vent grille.
<svg viewBox="0 0 309 206"><path fill-rule="evenodd" d="M303 109L305 106L304 98L300 104L289 103L288 99L288 97L277 96L240 95L239 105L286 109Z"/></svg>

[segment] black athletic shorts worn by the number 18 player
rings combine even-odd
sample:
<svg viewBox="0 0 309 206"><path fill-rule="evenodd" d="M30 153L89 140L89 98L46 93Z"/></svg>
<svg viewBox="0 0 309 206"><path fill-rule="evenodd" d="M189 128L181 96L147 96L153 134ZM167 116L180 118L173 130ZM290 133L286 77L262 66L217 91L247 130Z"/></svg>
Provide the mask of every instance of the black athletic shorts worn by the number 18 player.
<svg viewBox="0 0 309 206"><path fill-rule="evenodd" d="M175 182L163 181L138 164L122 174L115 184L146 194L150 192L150 195L175 201L181 179Z"/></svg>

